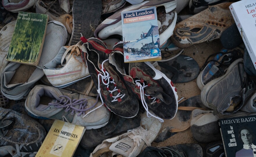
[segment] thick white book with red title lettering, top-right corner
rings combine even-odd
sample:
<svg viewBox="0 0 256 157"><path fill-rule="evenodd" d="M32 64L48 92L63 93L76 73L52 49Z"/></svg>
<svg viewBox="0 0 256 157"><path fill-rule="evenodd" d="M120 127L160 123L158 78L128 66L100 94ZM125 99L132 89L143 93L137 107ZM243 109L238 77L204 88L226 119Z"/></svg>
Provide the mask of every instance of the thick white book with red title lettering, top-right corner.
<svg viewBox="0 0 256 157"><path fill-rule="evenodd" d="M229 8L256 69L256 1L238 1Z"/></svg>

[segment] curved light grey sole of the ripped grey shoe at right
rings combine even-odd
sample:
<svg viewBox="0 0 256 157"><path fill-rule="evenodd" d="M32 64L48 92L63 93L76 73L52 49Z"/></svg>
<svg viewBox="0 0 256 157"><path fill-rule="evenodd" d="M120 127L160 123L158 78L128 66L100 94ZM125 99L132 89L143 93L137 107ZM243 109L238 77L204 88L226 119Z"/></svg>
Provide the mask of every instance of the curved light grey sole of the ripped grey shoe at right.
<svg viewBox="0 0 256 157"><path fill-rule="evenodd" d="M243 58L240 58L240 59L237 59L236 61L234 61L228 68L227 68L227 72L219 77L219 78L216 78L212 81L210 81L209 83L207 83L202 91L201 91L201 100L202 100L202 103L205 104L205 106L209 107L209 108L212 108L212 105L210 103L207 102L207 96L208 96L208 93L209 91L211 90L211 88L216 85L218 82L220 82L223 78L225 78L229 72L239 63L239 62L242 62L243 61Z"/></svg>

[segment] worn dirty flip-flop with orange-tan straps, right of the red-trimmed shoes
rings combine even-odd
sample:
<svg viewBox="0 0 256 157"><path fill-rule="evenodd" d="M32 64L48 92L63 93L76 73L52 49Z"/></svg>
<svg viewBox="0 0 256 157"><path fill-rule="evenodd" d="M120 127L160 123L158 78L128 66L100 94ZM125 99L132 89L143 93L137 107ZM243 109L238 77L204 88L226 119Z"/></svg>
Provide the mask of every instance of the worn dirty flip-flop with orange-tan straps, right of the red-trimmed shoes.
<svg viewBox="0 0 256 157"><path fill-rule="evenodd" d="M201 101L200 95L193 96L178 105L178 111L172 120L168 121L168 127L164 128L154 142L162 142L167 138L182 132L190 127L191 113L194 109L209 110Z"/></svg>

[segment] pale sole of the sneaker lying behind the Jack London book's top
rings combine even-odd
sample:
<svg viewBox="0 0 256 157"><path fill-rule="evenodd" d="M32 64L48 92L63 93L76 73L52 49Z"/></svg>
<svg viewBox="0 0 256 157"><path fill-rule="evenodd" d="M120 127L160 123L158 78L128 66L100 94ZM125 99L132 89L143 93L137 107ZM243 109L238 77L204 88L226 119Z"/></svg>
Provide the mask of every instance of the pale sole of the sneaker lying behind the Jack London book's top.
<svg viewBox="0 0 256 157"><path fill-rule="evenodd" d="M152 7L152 5L150 5L150 4L149 4L149 6L143 6L143 5L147 5L147 3L145 3L145 2L147 2L147 1L142 2L143 4L141 4L141 5L139 5L139 4L133 5L133 6L131 6L129 8L126 8L122 11L131 11L131 10L137 10L137 9ZM143 7L141 7L141 6L143 6ZM172 11L176 8L177 0L166 2L166 3L163 3L163 4L159 4L159 5L155 5L155 6L156 7L164 6L166 13L168 13L168 12L170 12L170 11ZM119 29L118 29L117 32L119 33L119 35L122 35L122 34L120 34L122 32L122 29L121 29L122 28L121 13L120 13L119 16L115 17L115 19L116 20L113 20L113 19L106 19L106 21L104 20L105 23L104 23L104 21L102 23L103 24L108 24L108 25L103 26L102 28L98 28L98 30L96 28L95 33L94 33L95 37L99 37L101 39L106 39L110 35L116 34L115 30L117 30L118 26L119 26ZM111 24L111 23L109 23L109 21L114 21L114 23ZM109 32L109 31L111 31L111 32L107 34L106 32Z"/></svg>

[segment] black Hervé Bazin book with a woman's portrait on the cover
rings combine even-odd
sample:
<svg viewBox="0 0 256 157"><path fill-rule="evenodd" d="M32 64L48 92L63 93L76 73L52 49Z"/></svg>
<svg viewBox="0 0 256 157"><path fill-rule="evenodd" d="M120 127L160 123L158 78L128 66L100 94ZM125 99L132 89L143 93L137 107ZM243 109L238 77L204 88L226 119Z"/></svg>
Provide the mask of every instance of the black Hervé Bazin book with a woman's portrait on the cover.
<svg viewBox="0 0 256 157"><path fill-rule="evenodd" d="M256 156L256 115L219 119L226 157Z"/></svg>

